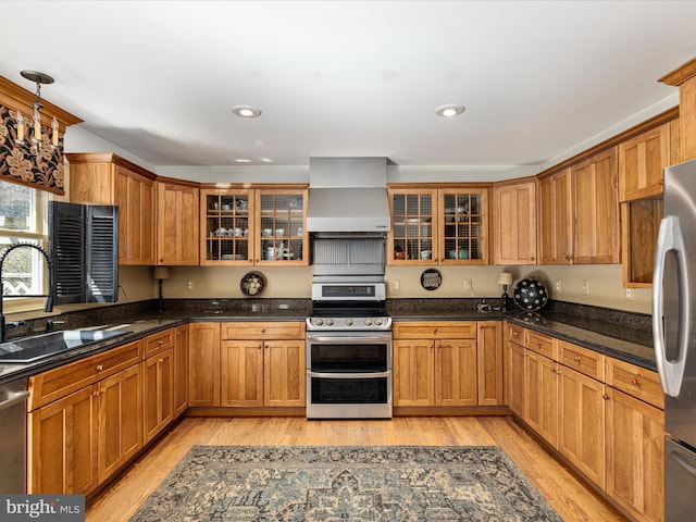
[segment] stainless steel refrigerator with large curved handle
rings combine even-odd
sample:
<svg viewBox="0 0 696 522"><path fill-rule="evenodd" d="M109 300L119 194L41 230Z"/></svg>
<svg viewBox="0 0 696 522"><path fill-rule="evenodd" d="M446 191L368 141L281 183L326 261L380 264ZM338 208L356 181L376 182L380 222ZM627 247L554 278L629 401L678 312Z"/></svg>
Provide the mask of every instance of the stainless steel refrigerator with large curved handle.
<svg viewBox="0 0 696 522"><path fill-rule="evenodd" d="M664 514L696 517L696 160L664 170L652 335L664 391Z"/></svg>

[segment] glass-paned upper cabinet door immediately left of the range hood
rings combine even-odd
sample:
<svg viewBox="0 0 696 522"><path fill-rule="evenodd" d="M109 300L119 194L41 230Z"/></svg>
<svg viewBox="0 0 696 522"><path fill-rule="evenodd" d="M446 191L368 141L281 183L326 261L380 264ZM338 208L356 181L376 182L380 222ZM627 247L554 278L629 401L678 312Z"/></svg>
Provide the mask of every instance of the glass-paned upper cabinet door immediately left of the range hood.
<svg viewBox="0 0 696 522"><path fill-rule="evenodd" d="M257 262L307 264L307 190L259 190Z"/></svg>

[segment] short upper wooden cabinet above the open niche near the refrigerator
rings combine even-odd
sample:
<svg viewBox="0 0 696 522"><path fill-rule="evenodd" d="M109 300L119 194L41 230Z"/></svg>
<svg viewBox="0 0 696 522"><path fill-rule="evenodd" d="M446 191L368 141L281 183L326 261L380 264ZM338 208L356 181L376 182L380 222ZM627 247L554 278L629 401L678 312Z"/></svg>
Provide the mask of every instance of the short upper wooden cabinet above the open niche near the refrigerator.
<svg viewBox="0 0 696 522"><path fill-rule="evenodd" d="M621 201L662 194L662 171L680 160L679 120L664 123L619 144Z"/></svg>

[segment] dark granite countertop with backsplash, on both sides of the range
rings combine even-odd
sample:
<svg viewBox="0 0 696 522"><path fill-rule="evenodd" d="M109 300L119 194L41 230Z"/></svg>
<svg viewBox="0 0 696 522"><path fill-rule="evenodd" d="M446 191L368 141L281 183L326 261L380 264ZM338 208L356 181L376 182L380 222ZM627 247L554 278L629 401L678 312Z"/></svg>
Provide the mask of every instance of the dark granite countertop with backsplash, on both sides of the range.
<svg viewBox="0 0 696 522"><path fill-rule="evenodd" d="M510 321L642 368L656 370L649 316L568 303L547 307L543 313L523 313L519 310L502 313L497 299L484 300L485 311L478 311L481 303L481 299L394 299L387 301L387 311L395 321ZM485 304L489 304L489 308ZM187 322L303 321L310 311L309 299L223 299L170 300L166 301L164 312L153 311L153 303L147 302L69 314L60 318L66 319L63 330L121 326L120 330L125 330L128 334L34 363L0 364L0 383L35 375ZM38 327L38 321L37 325L26 326L29 332L24 335L36 334L37 331L32 332L30 328Z"/></svg>

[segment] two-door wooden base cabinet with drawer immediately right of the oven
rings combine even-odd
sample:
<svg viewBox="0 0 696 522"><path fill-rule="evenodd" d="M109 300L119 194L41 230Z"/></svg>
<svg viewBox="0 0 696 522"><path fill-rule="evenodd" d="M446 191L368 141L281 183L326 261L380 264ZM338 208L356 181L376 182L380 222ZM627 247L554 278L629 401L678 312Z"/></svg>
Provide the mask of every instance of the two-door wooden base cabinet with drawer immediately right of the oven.
<svg viewBox="0 0 696 522"><path fill-rule="evenodd" d="M395 322L394 406L477 405L475 321Z"/></svg>

